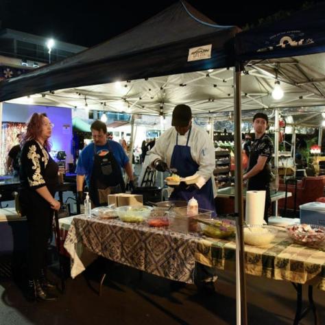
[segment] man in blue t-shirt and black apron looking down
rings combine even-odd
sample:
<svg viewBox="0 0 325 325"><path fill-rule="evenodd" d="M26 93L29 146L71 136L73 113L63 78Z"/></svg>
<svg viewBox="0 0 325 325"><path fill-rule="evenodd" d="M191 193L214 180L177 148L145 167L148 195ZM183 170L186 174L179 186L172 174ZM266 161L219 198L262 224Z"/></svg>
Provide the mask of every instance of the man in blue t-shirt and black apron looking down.
<svg viewBox="0 0 325 325"><path fill-rule="evenodd" d="M107 139L104 122L93 122L91 134L94 142L82 149L75 170L78 200L83 204L83 186L86 178L93 206L107 205L108 194L125 192L121 168L128 174L130 190L134 189L132 166L121 145Z"/></svg>

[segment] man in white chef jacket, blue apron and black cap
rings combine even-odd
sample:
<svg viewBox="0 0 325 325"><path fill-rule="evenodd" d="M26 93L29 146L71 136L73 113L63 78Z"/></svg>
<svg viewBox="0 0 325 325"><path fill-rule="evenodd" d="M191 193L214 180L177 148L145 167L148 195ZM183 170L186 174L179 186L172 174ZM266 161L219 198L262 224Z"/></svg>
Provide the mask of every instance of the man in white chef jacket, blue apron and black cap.
<svg viewBox="0 0 325 325"><path fill-rule="evenodd" d="M192 124L192 111L187 105L177 105L173 109L171 125L149 151L149 164L157 171L176 168L180 177L197 175L195 186L183 183L173 189L169 200L191 200L198 202L199 208L213 210L213 170L215 169L215 147L208 133ZM215 291L217 279L215 269L196 263L194 280L200 291Z"/></svg>

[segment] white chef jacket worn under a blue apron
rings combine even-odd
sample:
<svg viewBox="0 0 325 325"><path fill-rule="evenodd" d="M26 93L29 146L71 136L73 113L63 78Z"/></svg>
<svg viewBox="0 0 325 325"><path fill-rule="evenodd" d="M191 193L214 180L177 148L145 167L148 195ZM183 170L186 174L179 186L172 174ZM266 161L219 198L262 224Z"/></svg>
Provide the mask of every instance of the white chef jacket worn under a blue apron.
<svg viewBox="0 0 325 325"><path fill-rule="evenodd" d="M156 140L156 144L148 153L149 164L152 164L156 159L161 159L170 167L171 155L176 145L176 134L176 129L171 127ZM178 134L178 145L186 145L188 135L189 131L183 136ZM199 165L197 174L202 176L207 182L215 169L215 147L213 141L211 141L210 136L204 129L192 124L188 145L191 147L193 160Z"/></svg>

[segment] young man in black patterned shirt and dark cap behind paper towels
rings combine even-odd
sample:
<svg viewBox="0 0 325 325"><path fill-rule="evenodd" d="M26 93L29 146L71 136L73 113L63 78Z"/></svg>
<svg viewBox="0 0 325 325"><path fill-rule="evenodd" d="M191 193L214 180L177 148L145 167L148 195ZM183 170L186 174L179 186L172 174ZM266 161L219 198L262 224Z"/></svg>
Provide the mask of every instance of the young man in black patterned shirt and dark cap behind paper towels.
<svg viewBox="0 0 325 325"><path fill-rule="evenodd" d="M269 183L272 180L271 167L269 165L274 152L272 140L265 131L269 125L266 114L258 112L253 117L255 139L250 149L250 161L248 169L243 175L243 180L248 180L248 191L266 191L264 219L267 221L269 206L271 206L271 194Z"/></svg>

